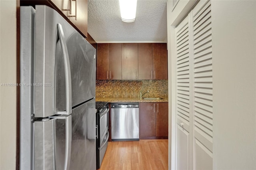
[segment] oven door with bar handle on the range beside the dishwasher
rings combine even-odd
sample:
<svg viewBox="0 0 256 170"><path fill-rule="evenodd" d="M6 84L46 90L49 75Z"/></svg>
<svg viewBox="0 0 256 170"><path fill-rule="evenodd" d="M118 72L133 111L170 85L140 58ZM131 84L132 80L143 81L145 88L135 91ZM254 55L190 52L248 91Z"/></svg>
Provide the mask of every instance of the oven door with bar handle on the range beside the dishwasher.
<svg viewBox="0 0 256 170"><path fill-rule="evenodd" d="M104 142L104 138L106 138L106 134L108 132L108 112L109 112L109 106L107 106L102 113L99 114L100 122L99 122L99 136L100 136L100 142L99 146L102 146L102 143Z"/></svg>

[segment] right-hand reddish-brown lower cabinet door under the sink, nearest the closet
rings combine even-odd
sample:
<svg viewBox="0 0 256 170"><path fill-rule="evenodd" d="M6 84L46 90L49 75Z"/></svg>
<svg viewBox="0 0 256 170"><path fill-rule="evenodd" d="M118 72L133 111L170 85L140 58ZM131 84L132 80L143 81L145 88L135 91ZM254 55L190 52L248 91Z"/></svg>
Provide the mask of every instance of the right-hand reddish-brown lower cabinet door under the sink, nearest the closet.
<svg viewBox="0 0 256 170"><path fill-rule="evenodd" d="M168 136L168 103L156 103L156 137Z"/></svg>

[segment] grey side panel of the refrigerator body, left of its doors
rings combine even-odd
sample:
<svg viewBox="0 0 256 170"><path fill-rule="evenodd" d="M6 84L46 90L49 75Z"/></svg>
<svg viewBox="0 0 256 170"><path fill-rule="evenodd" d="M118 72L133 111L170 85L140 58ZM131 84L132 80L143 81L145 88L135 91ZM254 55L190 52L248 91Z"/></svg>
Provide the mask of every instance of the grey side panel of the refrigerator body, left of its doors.
<svg viewBox="0 0 256 170"><path fill-rule="evenodd" d="M35 13L30 6L20 7L20 170L32 170Z"/></svg>

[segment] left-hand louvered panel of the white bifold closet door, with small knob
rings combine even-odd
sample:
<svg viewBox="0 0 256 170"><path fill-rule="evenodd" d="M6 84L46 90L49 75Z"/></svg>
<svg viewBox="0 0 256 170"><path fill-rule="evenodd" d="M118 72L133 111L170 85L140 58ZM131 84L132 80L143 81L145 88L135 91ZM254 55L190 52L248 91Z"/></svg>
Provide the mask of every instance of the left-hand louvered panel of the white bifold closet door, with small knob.
<svg viewBox="0 0 256 170"><path fill-rule="evenodd" d="M177 169L189 168L190 58L188 17L176 28Z"/></svg>

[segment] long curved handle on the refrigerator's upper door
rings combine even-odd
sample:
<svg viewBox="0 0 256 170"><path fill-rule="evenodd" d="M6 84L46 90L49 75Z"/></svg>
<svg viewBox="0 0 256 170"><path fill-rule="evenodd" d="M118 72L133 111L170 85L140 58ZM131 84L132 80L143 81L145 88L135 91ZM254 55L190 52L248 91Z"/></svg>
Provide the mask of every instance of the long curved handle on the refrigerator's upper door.
<svg viewBox="0 0 256 170"><path fill-rule="evenodd" d="M58 26L58 36L60 39L60 45L64 57L65 65L65 83L66 83L66 111L58 111L58 115L70 115L72 113L72 89L71 89L71 71L70 71L70 62L68 56L68 47L66 41L64 41L64 32L60 23Z"/></svg>

